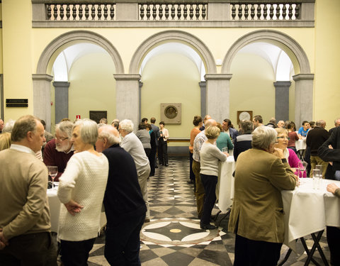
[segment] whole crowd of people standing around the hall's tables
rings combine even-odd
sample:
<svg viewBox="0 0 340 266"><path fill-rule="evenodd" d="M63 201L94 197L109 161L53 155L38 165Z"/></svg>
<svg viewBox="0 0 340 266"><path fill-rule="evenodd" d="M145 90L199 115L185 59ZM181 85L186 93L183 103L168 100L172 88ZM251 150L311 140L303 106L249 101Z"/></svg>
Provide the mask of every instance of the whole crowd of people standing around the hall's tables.
<svg viewBox="0 0 340 266"><path fill-rule="evenodd" d="M55 135L45 121L22 116L0 119L0 262L4 265L56 265L47 203L48 165L58 168L57 196L63 207L57 238L64 265L86 265L104 207L107 218L104 255L110 265L140 265L140 230L150 221L147 179L169 165L169 131L155 118L142 118L138 131L128 119L108 125L90 119L63 119ZM261 116L234 128L228 118L193 118L190 180L194 184L200 228L213 230L218 162L233 153L234 201L229 231L236 234L234 265L276 265L283 243L282 189L295 189L300 162L296 140L305 140L305 160L323 166L323 177L340 180L340 118L330 131L323 120L293 121ZM312 128L310 125L313 125ZM297 131L297 132L296 132ZM339 141L338 141L339 140ZM300 177L309 176L305 173ZM94 182L94 180L96 182ZM340 196L329 184L328 191ZM331 262L339 264L340 229L327 227ZM28 243L28 244L27 244ZM2 265L2 264L1 264Z"/></svg>

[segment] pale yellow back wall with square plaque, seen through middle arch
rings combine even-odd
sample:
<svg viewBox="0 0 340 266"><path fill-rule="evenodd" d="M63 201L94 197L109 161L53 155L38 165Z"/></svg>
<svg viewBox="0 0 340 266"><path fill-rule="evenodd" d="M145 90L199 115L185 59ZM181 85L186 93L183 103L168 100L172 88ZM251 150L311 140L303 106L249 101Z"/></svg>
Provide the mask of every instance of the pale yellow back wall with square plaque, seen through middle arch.
<svg viewBox="0 0 340 266"><path fill-rule="evenodd" d="M200 74L196 65L183 55L157 55L147 62L142 82L141 117L154 116L158 126L161 103L181 103L182 123L166 128L171 138L190 138L193 117L200 115Z"/></svg>

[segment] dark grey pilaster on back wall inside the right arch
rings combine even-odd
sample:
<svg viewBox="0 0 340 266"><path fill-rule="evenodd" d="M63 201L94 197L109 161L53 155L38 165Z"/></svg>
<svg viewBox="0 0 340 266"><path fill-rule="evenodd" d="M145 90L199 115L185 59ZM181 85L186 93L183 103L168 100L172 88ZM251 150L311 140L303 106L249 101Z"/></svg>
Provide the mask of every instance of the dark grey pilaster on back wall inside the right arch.
<svg viewBox="0 0 340 266"><path fill-rule="evenodd" d="M289 120L289 87L291 82L274 82L276 122Z"/></svg>

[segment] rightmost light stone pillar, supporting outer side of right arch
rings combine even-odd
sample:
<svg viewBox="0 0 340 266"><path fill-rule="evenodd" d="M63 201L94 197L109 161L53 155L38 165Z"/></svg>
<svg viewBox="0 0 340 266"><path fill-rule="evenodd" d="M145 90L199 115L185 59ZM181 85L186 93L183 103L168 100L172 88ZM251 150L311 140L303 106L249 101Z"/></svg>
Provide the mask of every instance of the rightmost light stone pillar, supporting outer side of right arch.
<svg viewBox="0 0 340 266"><path fill-rule="evenodd" d="M313 81L314 74L296 74L295 81L295 125L313 118Z"/></svg>

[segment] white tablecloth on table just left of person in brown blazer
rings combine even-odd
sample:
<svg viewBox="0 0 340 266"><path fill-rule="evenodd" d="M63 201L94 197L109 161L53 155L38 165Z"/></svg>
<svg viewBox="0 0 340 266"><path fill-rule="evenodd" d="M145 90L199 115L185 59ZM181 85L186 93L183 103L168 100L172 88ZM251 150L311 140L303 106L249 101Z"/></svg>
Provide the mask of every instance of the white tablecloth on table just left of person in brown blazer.
<svg viewBox="0 0 340 266"><path fill-rule="evenodd" d="M232 178L232 173L234 170L234 156L229 156L227 161L220 162L218 208L222 213L226 213L227 209L232 205L232 198L234 197L234 178Z"/></svg>

